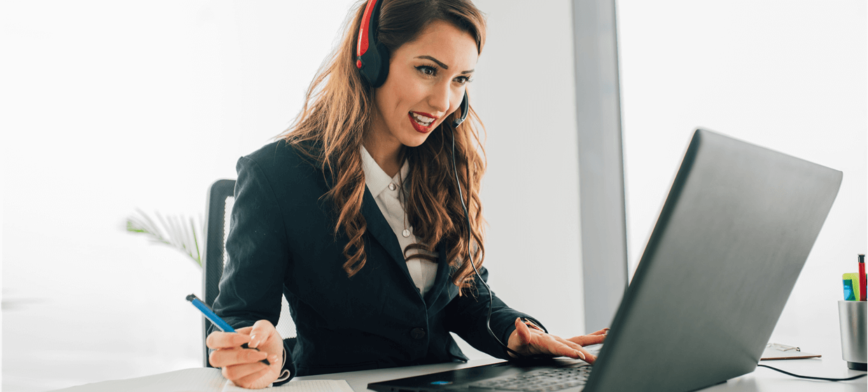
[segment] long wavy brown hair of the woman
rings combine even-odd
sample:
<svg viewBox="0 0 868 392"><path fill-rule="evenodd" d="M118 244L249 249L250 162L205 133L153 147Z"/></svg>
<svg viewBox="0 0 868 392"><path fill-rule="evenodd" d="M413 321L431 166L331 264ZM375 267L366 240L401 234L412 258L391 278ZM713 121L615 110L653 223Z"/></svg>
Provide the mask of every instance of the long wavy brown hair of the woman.
<svg viewBox="0 0 868 392"><path fill-rule="evenodd" d="M476 39L478 53L482 53L485 20L483 13L470 0L380 1L383 4L377 38L390 53L404 43L414 41L429 23L436 20L452 23L468 32ZM344 270L350 277L365 266L367 259L362 239L367 225L361 213L365 195L361 147L372 123L374 100L373 88L362 80L355 66L358 28L366 3L366 0L359 1L353 7L348 16L352 22L345 23L341 33L343 40L313 78L304 107L293 124L277 137L297 147L306 158L321 167L326 178L331 179L330 190L324 197L335 206L335 236L343 230L349 238L343 252L346 257ZM404 147L404 159L410 167L405 180L409 189L404 208L419 242L407 246L404 257L411 249L434 252L434 246L443 243L449 265L453 268L452 283L470 289L473 269L464 260L468 259L469 249L473 248L473 264L478 268L485 255L484 219L479 201L485 151L478 133L479 129L484 133L484 127L472 106L467 120L460 127L452 127L457 114L458 111L445 119L422 145ZM470 244L452 169L452 138L455 139L455 163L464 203L470 213ZM426 252L418 252L411 258L436 261Z"/></svg>

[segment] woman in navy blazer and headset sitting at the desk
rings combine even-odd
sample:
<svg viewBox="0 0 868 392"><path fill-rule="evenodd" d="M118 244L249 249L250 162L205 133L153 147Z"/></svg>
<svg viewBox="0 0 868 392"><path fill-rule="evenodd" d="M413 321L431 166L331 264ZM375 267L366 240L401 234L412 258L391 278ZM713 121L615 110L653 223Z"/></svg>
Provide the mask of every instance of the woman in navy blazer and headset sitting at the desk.
<svg viewBox="0 0 868 392"><path fill-rule="evenodd" d="M546 334L483 284L481 122L472 108L456 120L484 40L469 0L360 2L293 127L239 160L214 303L237 333L207 339L211 364L236 385L466 361L450 332L504 359L594 362L582 345L604 330ZM376 65L358 57L366 50L385 50L383 74L365 75ZM294 347L273 327L281 295Z"/></svg>

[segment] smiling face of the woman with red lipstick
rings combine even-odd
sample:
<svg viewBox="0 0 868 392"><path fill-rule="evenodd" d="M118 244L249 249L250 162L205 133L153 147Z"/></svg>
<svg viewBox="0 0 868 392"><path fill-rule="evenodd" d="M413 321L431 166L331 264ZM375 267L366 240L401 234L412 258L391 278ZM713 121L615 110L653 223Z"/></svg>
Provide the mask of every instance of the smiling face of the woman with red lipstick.
<svg viewBox="0 0 868 392"><path fill-rule="evenodd" d="M417 147L456 111L477 65L477 42L435 21L391 54L389 75L374 91L372 136L380 147Z"/></svg>

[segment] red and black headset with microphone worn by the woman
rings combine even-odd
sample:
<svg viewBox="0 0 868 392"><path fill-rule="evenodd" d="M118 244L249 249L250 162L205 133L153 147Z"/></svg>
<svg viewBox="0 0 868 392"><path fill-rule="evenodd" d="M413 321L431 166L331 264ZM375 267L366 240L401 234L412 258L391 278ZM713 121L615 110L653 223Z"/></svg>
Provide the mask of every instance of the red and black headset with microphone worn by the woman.
<svg viewBox="0 0 868 392"><path fill-rule="evenodd" d="M358 43L356 44L356 68L363 78L378 88L385 83L389 75L389 49L383 43L377 41L375 33L379 25L379 10L383 0L368 0L365 6L365 16L358 27ZM467 90L464 90L464 99L461 101L461 117L452 121L452 127L458 127L467 118L470 111L470 101L467 99Z"/></svg>

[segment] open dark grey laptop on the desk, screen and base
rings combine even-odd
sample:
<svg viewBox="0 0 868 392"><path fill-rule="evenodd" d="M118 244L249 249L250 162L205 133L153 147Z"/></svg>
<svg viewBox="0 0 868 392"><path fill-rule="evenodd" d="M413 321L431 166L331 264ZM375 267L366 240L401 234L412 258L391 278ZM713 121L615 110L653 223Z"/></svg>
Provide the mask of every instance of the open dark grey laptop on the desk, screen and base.
<svg viewBox="0 0 868 392"><path fill-rule="evenodd" d="M691 391L756 369L842 173L697 129L593 366L494 363L381 392Z"/></svg>

